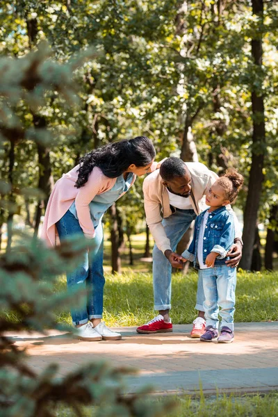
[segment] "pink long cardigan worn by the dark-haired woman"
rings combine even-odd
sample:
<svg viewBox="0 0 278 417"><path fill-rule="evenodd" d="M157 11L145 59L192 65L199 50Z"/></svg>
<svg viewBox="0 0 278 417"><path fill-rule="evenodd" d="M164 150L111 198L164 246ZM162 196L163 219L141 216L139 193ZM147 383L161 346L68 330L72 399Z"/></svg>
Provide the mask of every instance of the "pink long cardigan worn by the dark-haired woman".
<svg viewBox="0 0 278 417"><path fill-rule="evenodd" d="M41 233L41 238L46 241L48 246L56 245L56 237L58 238L58 234L55 224L63 218L63 215L70 208L74 200L79 224L84 235L88 238L95 237L95 228L92 224L89 204L95 195L111 190L117 178L108 178L98 167L95 167L90 173L85 186L76 188L74 184L78 177L78 169L79 165L74 167L70 172L67 172L67 174L63 174L63 177L56 182L49 197ZM135 180L136 175L133 175L131 186Z"/></svg>

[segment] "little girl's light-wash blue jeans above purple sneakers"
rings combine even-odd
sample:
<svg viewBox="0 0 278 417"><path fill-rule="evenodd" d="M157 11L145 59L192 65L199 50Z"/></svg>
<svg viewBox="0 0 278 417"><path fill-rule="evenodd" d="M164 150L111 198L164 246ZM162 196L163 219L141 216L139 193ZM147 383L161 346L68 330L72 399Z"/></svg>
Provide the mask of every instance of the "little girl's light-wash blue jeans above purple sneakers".
<svg viewBox="0 0 278 417"><path fill-rule="evenodd" d="M206 326L218 329L218 313L223 326L234 330L234 311L236 302L236 268L218 265L214 268L199 270L199 278L204 287L204 316ZM221 307L221 310L219 309Z"/></svg>

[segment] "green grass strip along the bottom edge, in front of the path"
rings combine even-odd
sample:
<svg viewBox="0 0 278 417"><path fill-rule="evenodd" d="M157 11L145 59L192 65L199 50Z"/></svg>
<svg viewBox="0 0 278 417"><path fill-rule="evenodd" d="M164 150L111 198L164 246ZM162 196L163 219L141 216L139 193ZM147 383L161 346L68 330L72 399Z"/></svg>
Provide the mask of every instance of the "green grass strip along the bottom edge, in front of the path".
<svg viewBox="0 0 278 417"><path fill-rule="evenodd" d="M152 401L163 402L165 398L153 398ZM175 397L177 409L167 414L167 417L277 417L278 416L278 393L268 395L216 395L205 398L188 396ZM94 417L94 407L84 407L84 417ZM161 415L161 414L159 414ZM59 407L57 417L72 417L71 409ZM165 416L165 414L164 414Z"/></svg>

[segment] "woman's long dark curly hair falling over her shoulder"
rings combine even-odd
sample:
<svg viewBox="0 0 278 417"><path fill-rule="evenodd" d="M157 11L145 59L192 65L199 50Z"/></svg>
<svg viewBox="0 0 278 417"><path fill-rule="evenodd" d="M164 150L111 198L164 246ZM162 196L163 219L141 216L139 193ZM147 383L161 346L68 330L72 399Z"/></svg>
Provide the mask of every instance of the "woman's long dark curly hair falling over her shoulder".
<svg viewBox="0 0 278 417"><path fill-rule="evenodd" d="M145 136L121 140L99 147L83 156L79 163L76 188L81 188L88 181L94 167L99 167L108 178L120 177L129 167L145 167L156 156L156 150L151 140Z"/></svg>

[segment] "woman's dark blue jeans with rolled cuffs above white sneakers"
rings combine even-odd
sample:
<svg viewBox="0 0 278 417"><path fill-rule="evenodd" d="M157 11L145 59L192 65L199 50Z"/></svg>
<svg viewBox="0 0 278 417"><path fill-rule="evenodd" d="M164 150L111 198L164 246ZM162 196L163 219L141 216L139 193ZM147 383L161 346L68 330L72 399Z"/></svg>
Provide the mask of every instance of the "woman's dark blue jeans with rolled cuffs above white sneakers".
<svg viewBox="0 0 278 417"><path fill-rule="evenodd" d="M56 223L60 240L65 240L73 235L83 236L79 221L67 211L63 218ZM71 309L74 325L83 325L91 318L102 318L104 305L104 234L102 224L95 229L95 238L90 241L93 247L90 252L83 254L83 261L72 272L67 274L67 287L80 289L87 293L87 297L81 297L81 306Z"/></svg>

